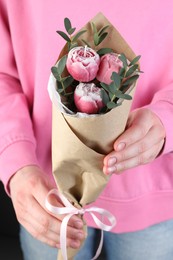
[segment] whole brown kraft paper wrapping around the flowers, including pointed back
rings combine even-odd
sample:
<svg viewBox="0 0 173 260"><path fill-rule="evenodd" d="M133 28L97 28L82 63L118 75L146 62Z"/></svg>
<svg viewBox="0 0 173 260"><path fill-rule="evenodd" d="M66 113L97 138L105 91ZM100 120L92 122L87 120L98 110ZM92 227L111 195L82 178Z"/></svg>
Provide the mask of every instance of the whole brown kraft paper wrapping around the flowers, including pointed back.
<svg viewBox="0 0 173 260"><path fill-rule="evenodd" d="M116 53L124 53L129 61L136 56L119 32L101 13L81 29L87 29L87 33L83 34L82 38L89 42L91 47L94 47L91 22L94 22L98 29L109 25L107 30L109 34L99 45L99 49L112 48ZM67 46L64 46L59 59L66 53ZM51 79L49 87L56 89L55 79ZM133 96L135 85L131 88L130 94ZM80 208L95 201L109 181L109 177L102 171L103 158L113 150L115 139L124 131L132 101L124 100L119 107L106 114L79 118L60 111L56 97L53 94L51 96L53 175L58 190ZM73 259L77 252L78 250L68 248L68 259ZM58 254L58 260L60 259L63 259L61 250Z"/></svg>

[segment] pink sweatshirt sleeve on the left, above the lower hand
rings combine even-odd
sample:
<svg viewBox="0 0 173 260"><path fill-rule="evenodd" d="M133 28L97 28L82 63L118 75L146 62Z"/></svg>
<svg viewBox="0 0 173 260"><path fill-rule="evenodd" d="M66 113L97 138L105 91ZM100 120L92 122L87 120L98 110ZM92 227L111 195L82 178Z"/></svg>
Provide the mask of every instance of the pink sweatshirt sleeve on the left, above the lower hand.
<svg viewBox="0 0 173 260"><path fill-rule="evenodd" d="M17 170L38 162L31 107L20 84L4 2L0 2L0 179L7 190Z"/></svg>

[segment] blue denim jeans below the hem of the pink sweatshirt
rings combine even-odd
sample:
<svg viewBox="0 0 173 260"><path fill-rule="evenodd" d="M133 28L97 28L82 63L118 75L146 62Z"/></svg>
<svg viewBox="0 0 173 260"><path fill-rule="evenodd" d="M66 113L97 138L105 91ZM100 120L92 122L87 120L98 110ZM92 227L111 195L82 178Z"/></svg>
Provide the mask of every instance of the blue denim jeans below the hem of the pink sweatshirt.
<svg viewBox="0 0 173 260"><path fill-rule="evenodd" d="M57 249L34 239L22 227L20 239L25 260L57 259ZM75 260L90 260L99 239L100 231L88 228L85 245ZM104 232L104 246L98 260L173 260L173 220L137 232Z"/></svg>

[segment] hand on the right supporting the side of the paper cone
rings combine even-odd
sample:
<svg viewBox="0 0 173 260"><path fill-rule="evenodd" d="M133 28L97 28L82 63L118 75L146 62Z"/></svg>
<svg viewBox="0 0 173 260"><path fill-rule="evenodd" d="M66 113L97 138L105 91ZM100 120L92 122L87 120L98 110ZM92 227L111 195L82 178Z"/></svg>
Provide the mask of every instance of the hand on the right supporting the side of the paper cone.
<svg viewBox="0 0 173 260"><path fill-rule="evenodd" d="M115 141L114 151L104 158L103 172L119 174L153 161L164 145L165 129L160 119L147 108L133 111L125 132Z"/></svg>

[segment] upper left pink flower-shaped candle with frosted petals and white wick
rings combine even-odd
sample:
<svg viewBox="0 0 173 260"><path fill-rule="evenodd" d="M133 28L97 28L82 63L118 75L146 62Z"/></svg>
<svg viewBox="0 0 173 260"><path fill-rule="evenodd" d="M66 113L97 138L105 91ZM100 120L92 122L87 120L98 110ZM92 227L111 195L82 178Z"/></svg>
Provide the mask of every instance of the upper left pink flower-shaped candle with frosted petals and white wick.
<svg viewBox="0 0 173 260"><path fill-rule="evenodd" d="M97 52L87 46L80 46L69 51L66 67L75 80L89 82L96 77L99 64Z"/></svg>

